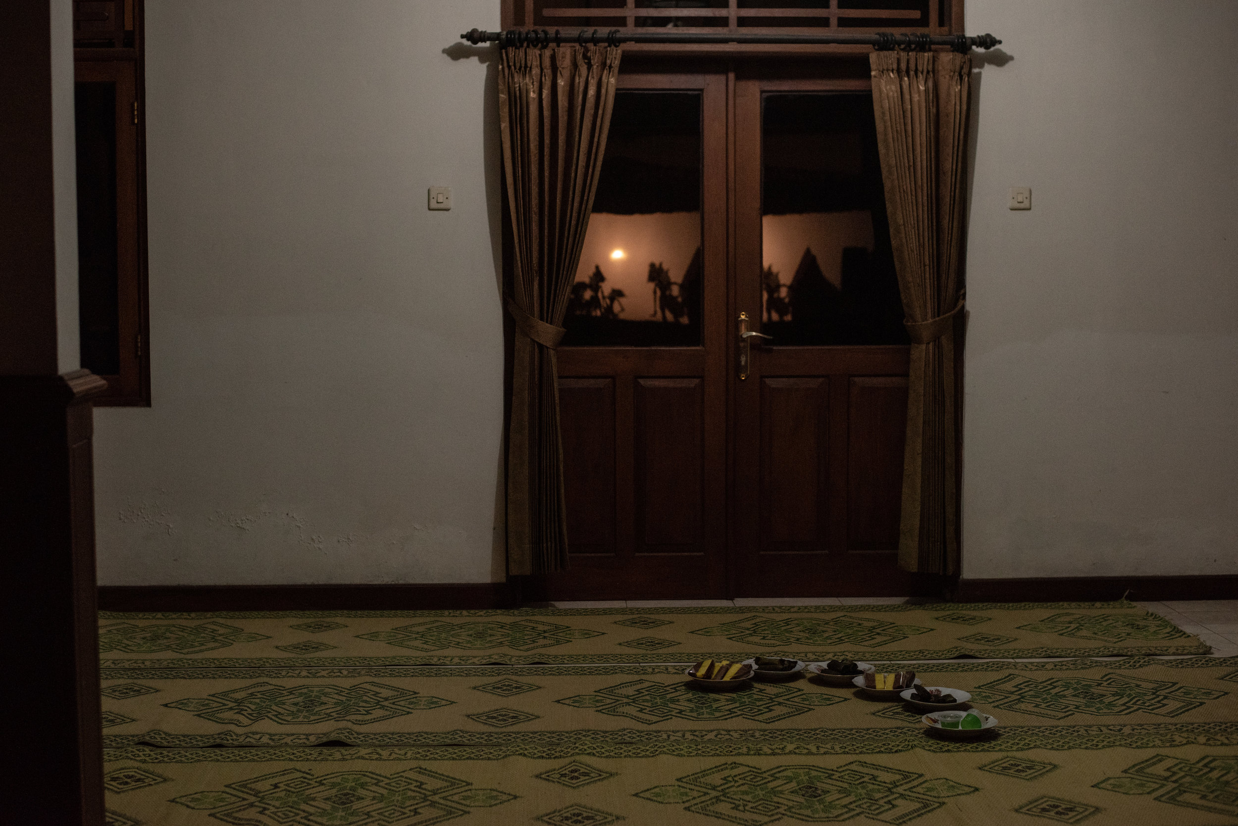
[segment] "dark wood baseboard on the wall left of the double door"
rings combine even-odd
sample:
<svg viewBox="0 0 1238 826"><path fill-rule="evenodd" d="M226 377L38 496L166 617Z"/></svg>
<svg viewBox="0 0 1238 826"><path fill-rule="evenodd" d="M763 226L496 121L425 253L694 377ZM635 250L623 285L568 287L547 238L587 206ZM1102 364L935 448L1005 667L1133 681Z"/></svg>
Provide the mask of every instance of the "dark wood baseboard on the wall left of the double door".
<svg viewBox="0 0 1238 826"><path fill-rule="evenodd" d="M103 611L438 611L514 608L508 582L432 585L103 585Z"/></svg>

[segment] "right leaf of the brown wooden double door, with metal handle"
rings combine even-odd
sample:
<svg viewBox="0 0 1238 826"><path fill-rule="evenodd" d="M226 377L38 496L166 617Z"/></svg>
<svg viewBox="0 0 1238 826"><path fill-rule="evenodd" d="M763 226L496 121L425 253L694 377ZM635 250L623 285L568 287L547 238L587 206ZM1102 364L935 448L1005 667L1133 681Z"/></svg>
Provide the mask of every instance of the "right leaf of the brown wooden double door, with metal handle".
<svg viewBox="0 0 1238 826"><path fill-rule="evenodd" d="M737 357L738 336L734 324L740 312L756 320L749 329L761 330L768 325L764 331L774 335L774 339L753 347L745 381L738 381L734 375L730 381L732 596L910 596L925 590L925 582L898 569L895 553L901 506L909 349L891 343L896 336L888 335L889 325L880 326L874 320L879 319L881 324L888 321L889 307L864 303L889 298L885 291L889 284L880 281L889 273L878 267L878 262L885 261L878 255L883 249L878 242L878 231L884 226L884 219L879 214L884 198L878 198L874 193L870 200L848 202L851 205L838 208L813 195L806 197L801 206L791 209L789 204L800 203L787 194L794 195L794 190L787 188L797 185L795 176L785 174L792 167L771 161L770 167L782 176L775 174L773 178L764 169L765 94L794 92L854 95L863 88L863 82L807 78L785 80L764 78L760 73L738 77L735 82L732 192L734 271L729 314L733 325L732 362ZM862 116L862 106L852 103L847 106L849 108L836 109L838 113L851 113L848 117ZM822 122L825 121L806 116L805 130L820 127L822 135L826 135L828 130L820 126ZM784 126L786 124L779 129ZM854 132L853 126L838 129L838 134L846 130ZM771 135L786 143L791 140L787 136L797 134L790 127L784 129L784 132L774 131ZM859 142L855 146L867 146L864 140L857 140ZM820 151L831 151L831 146L834 145L829 140L821 138ZM847 163L869 163L865 158L870 156L864 152L857 150L854 158L858 160L853 158ZM801 163L799 158L816 156L807 152L787 157ZM787 160L782 156L777 158ZM803 168L810 167L807 164ZM872 179L868 172L857 174L852 181ZM770 181L784 189L768 189L768 184L774 185ZM803 182L806 188L815 185L810 174L803 177ZM770 203L766 204L766 200ZM831 270L829 275L820 270L816 257L811 261L817 263L805 265L810 261L807 252L800 257L800 267L786 263L774 266L766 261L766 218L800 213L826 214L838 209L870 210L873 240L870 244L860 244L869 250L868 257L857 255L853 261L844 253L843 263L848 268ZM776 234L771 239L771 244L782 245L771 246L776 253L774 257L786 258L782 255L786 250L782 247L796 246L792 250L796 255L803 249L797 246L799 241L792 245ZM817 244L816 236L810 241ZM859 241L847 241L843 247L853 242ZM825 249L829 249L828 244ZM821 252L822 250L815 249L813 256ZM863 262L864 266L855 262ZM787 283L790 271L795 271L796 276ZM774 278L781 284L776 291L770 286ZM797 288L795 284L799 279L802 282ZM796 330L795 313L799 310L795 309L795 291L805 291L799 300L807 310L815 294L811 292L812 284L826 281L833 284L837 296L828 286L821 287L823 296L834 298L821 298L821 307L813 310L820 313L805 313L800 319L801 326ZM786 307L780 310L770 309L775 307L775 297L790 305L790 324L786 324ZM834 303L831 304L831 300ZM884 314L878 314L877 309L881 309ZM813 330L820 335L806 335L813 325L817 325ZM753 487L759 490L754 491Z"/></svg>

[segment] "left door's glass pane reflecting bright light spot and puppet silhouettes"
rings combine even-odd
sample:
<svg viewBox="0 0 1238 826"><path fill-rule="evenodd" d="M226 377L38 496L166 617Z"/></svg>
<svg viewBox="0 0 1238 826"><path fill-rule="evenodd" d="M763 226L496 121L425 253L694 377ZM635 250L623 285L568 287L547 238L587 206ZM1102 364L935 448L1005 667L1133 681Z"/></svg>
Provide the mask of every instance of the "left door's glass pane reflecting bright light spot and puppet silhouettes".
<svg viewBox="0 0 1238 826"><path fill-rule="evenodd" d="M562 346L699 346L701 93L615 93Z"/></svg>

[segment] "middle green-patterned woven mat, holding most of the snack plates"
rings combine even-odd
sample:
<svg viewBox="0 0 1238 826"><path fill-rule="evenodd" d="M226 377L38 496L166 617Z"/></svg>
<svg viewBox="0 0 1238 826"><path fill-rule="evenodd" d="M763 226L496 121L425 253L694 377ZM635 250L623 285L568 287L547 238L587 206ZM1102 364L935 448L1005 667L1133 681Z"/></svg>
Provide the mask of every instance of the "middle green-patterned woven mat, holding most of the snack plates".
<svg viewBox="0 0 1238 826"><path fill-rule="evenodd" d="M987 748L1148 747L1238 730L1238 658L917 666L994 715ZM109 747L423 747L442 757L883 753L938 748L903 704L799 679L707 692L676 665L104 669ZM1140 739L1141 738L1141 739ZM1211 741L1205 741L1211 742ZM946 744L947 751L957 746ZM581 752L578 749L586 749ZM675 749L686 749L675 751Z"/></svg>

